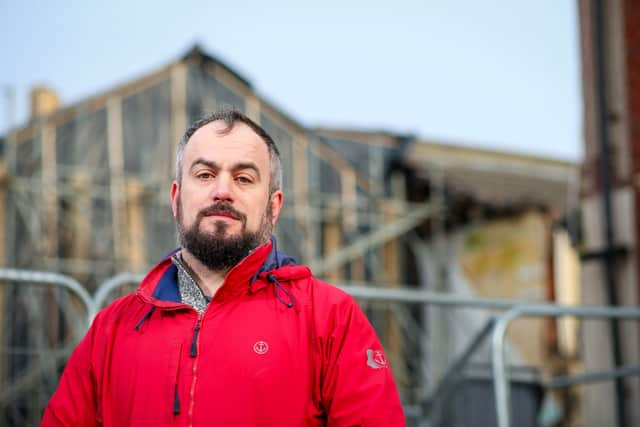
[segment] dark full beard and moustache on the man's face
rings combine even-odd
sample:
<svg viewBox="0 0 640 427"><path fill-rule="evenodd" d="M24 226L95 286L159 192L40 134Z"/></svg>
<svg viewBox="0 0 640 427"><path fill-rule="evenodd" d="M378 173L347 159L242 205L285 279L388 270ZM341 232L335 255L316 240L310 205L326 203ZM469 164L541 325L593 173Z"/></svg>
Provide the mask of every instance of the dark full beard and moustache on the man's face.
<svg viewBox="0 0 640 427"><path fill-rule="evenodd" d="M229 235L229 224L216 221L214 231L201 231L202 220L212 214L226 213L241 221L240 232ZM258 246L266 243L273 231L273 212L267 203L260 226L256 231L247 230L247 217L230 204L218 202L198 212L191 226L183 223L182 202L178 198L177 229L178 240L183 248L212 271L228 271L249 255Z"/></svg>

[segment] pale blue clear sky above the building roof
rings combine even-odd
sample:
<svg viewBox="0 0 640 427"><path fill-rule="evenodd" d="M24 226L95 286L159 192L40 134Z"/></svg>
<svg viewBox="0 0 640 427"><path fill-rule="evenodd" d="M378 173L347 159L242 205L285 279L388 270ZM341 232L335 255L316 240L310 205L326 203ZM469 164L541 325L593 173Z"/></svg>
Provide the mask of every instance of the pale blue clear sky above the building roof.
<svg viewBox="0 0 640 427"><path fill-rule="evenodd" d="M579 161L575 0L0 0L0 133L29 89L65 105L195 43L305 126Z"/></svg>

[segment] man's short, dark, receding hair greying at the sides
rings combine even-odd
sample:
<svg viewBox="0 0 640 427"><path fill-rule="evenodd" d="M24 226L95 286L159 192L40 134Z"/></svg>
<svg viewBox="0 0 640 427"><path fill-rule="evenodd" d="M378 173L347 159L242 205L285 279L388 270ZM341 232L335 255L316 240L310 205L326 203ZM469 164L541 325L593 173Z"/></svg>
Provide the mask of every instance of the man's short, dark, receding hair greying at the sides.
<svg viewBox="0 0 640 427"><path fill-rule="evenodd" d="M273 138L271 138L271 136L269 136L269 134L260 127L260 125L238 110L231 108L225 108L214 113L207 114L189 126L184 135L182 135L176 151L176 181L178 184L182 184L182 159L184 157L184 147L198 129L208 125L209 123L217 121L224 122L226 125L224 129L218 131L221 135L226 135L231 132L236 123L240 122L249 126L251 130L262 138L262 140L267 144L267 149L269 150L269 161L271 163L269 192L273 193L274 191L280 190L282 187L282 162L280 161L280 152L278 151L276 143L273 141Z"/></svg>

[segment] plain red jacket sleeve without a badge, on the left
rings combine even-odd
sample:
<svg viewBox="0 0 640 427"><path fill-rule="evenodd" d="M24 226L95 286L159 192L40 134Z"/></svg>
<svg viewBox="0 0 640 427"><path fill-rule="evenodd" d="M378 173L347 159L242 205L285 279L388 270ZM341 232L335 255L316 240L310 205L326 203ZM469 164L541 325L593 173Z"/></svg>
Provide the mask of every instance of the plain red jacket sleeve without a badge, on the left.
<svg viewBox="0 0 640 427"><path fill-rule="evenodd" d="M96 318L71 354L58 388L45 408L41 427L98 425L97 389L92 368L92 354L98 328L99 321Z"/></svg>

